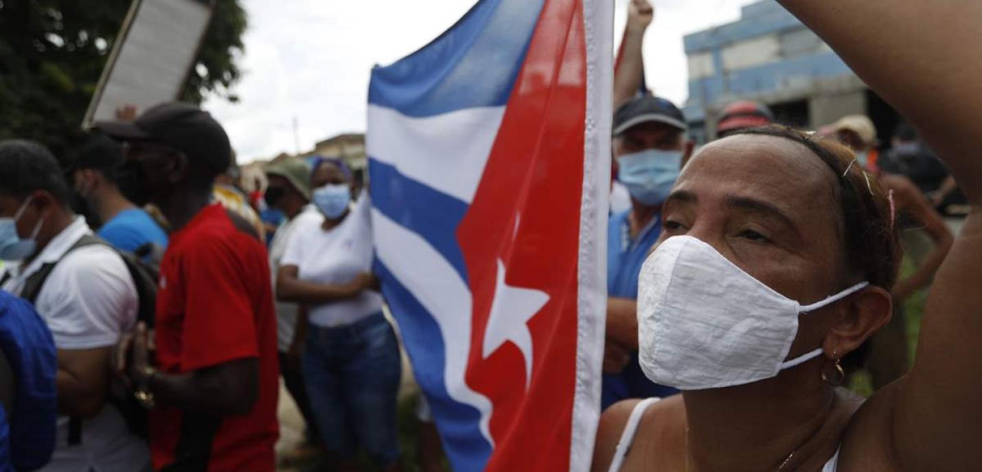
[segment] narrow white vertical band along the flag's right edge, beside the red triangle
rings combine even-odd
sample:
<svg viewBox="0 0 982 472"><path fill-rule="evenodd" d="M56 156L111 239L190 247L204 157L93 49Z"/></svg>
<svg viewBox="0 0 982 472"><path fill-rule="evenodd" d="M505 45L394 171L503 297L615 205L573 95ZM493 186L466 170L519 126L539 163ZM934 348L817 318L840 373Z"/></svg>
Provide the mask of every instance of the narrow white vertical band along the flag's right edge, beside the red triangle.
<svg viewBox="0 0 982 472"><path fill-rule="evenodd" d="M607 312L607 199L610 195L614 2L582 0L586 41L583 198L579 208L576 392L570 471L587 472L600 421Z"/></svg>

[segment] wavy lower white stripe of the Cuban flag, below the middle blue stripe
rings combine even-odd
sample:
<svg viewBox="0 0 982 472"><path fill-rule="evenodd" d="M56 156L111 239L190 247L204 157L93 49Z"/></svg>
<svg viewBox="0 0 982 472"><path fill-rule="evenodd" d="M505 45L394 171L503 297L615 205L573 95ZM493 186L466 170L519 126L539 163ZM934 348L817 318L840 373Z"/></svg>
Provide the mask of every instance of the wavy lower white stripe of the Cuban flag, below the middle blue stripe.
<svg viewBox="0 0 982 472"><path fill-rule="evenodd" d="M374 131L373 131L374 132ZM470 288L443 256L415 233L372 208L376 254L399 283L412 293L440 327L444 343L444 384L454 400L480 412L481 434L491 438L491 400L474 392L464 381L470 355Z"/></svg>

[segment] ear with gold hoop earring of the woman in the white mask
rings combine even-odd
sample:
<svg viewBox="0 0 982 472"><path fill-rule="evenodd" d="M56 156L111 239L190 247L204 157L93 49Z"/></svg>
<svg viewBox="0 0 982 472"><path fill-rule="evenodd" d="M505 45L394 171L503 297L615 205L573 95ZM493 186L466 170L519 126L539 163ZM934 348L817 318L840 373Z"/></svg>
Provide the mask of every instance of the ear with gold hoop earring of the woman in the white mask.
<svg viewBox="0 0 982 472"><path fill-rule="evenodd" d="M857 291L841 303L822 347L842 358L890 322L893 310L893 297L886 289L870 286Z"/></svg>

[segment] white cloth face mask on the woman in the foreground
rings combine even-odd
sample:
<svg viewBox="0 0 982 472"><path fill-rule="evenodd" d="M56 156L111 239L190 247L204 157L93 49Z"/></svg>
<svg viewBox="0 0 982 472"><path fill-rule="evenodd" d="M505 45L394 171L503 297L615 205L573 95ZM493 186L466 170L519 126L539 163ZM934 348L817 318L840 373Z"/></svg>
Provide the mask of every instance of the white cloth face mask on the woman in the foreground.
<svg viewBox="0 0 982 472"><path fill-rule="evenodd" d="M637 339L641 370L682 391L718 389L776 377L822 354L785 360L798 314L865 288L863 282L801 306L692 236L666 239L641 266Z"/></svg>

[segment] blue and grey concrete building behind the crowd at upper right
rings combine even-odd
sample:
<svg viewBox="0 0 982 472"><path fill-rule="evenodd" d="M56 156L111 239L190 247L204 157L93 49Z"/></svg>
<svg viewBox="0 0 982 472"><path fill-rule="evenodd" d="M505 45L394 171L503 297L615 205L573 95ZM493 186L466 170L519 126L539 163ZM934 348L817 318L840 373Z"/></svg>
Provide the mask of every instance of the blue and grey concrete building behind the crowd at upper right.
<svg viewBox="0 0 982 472"><path fill-rule="evenodd" d="M747 5L740 20L688 34L684 44L684 113L700 143L713 137L719 110L737 99L763 102L779 122L807 129L859 113L889 141L897 125L897 112L774 0Z"/></svg>

